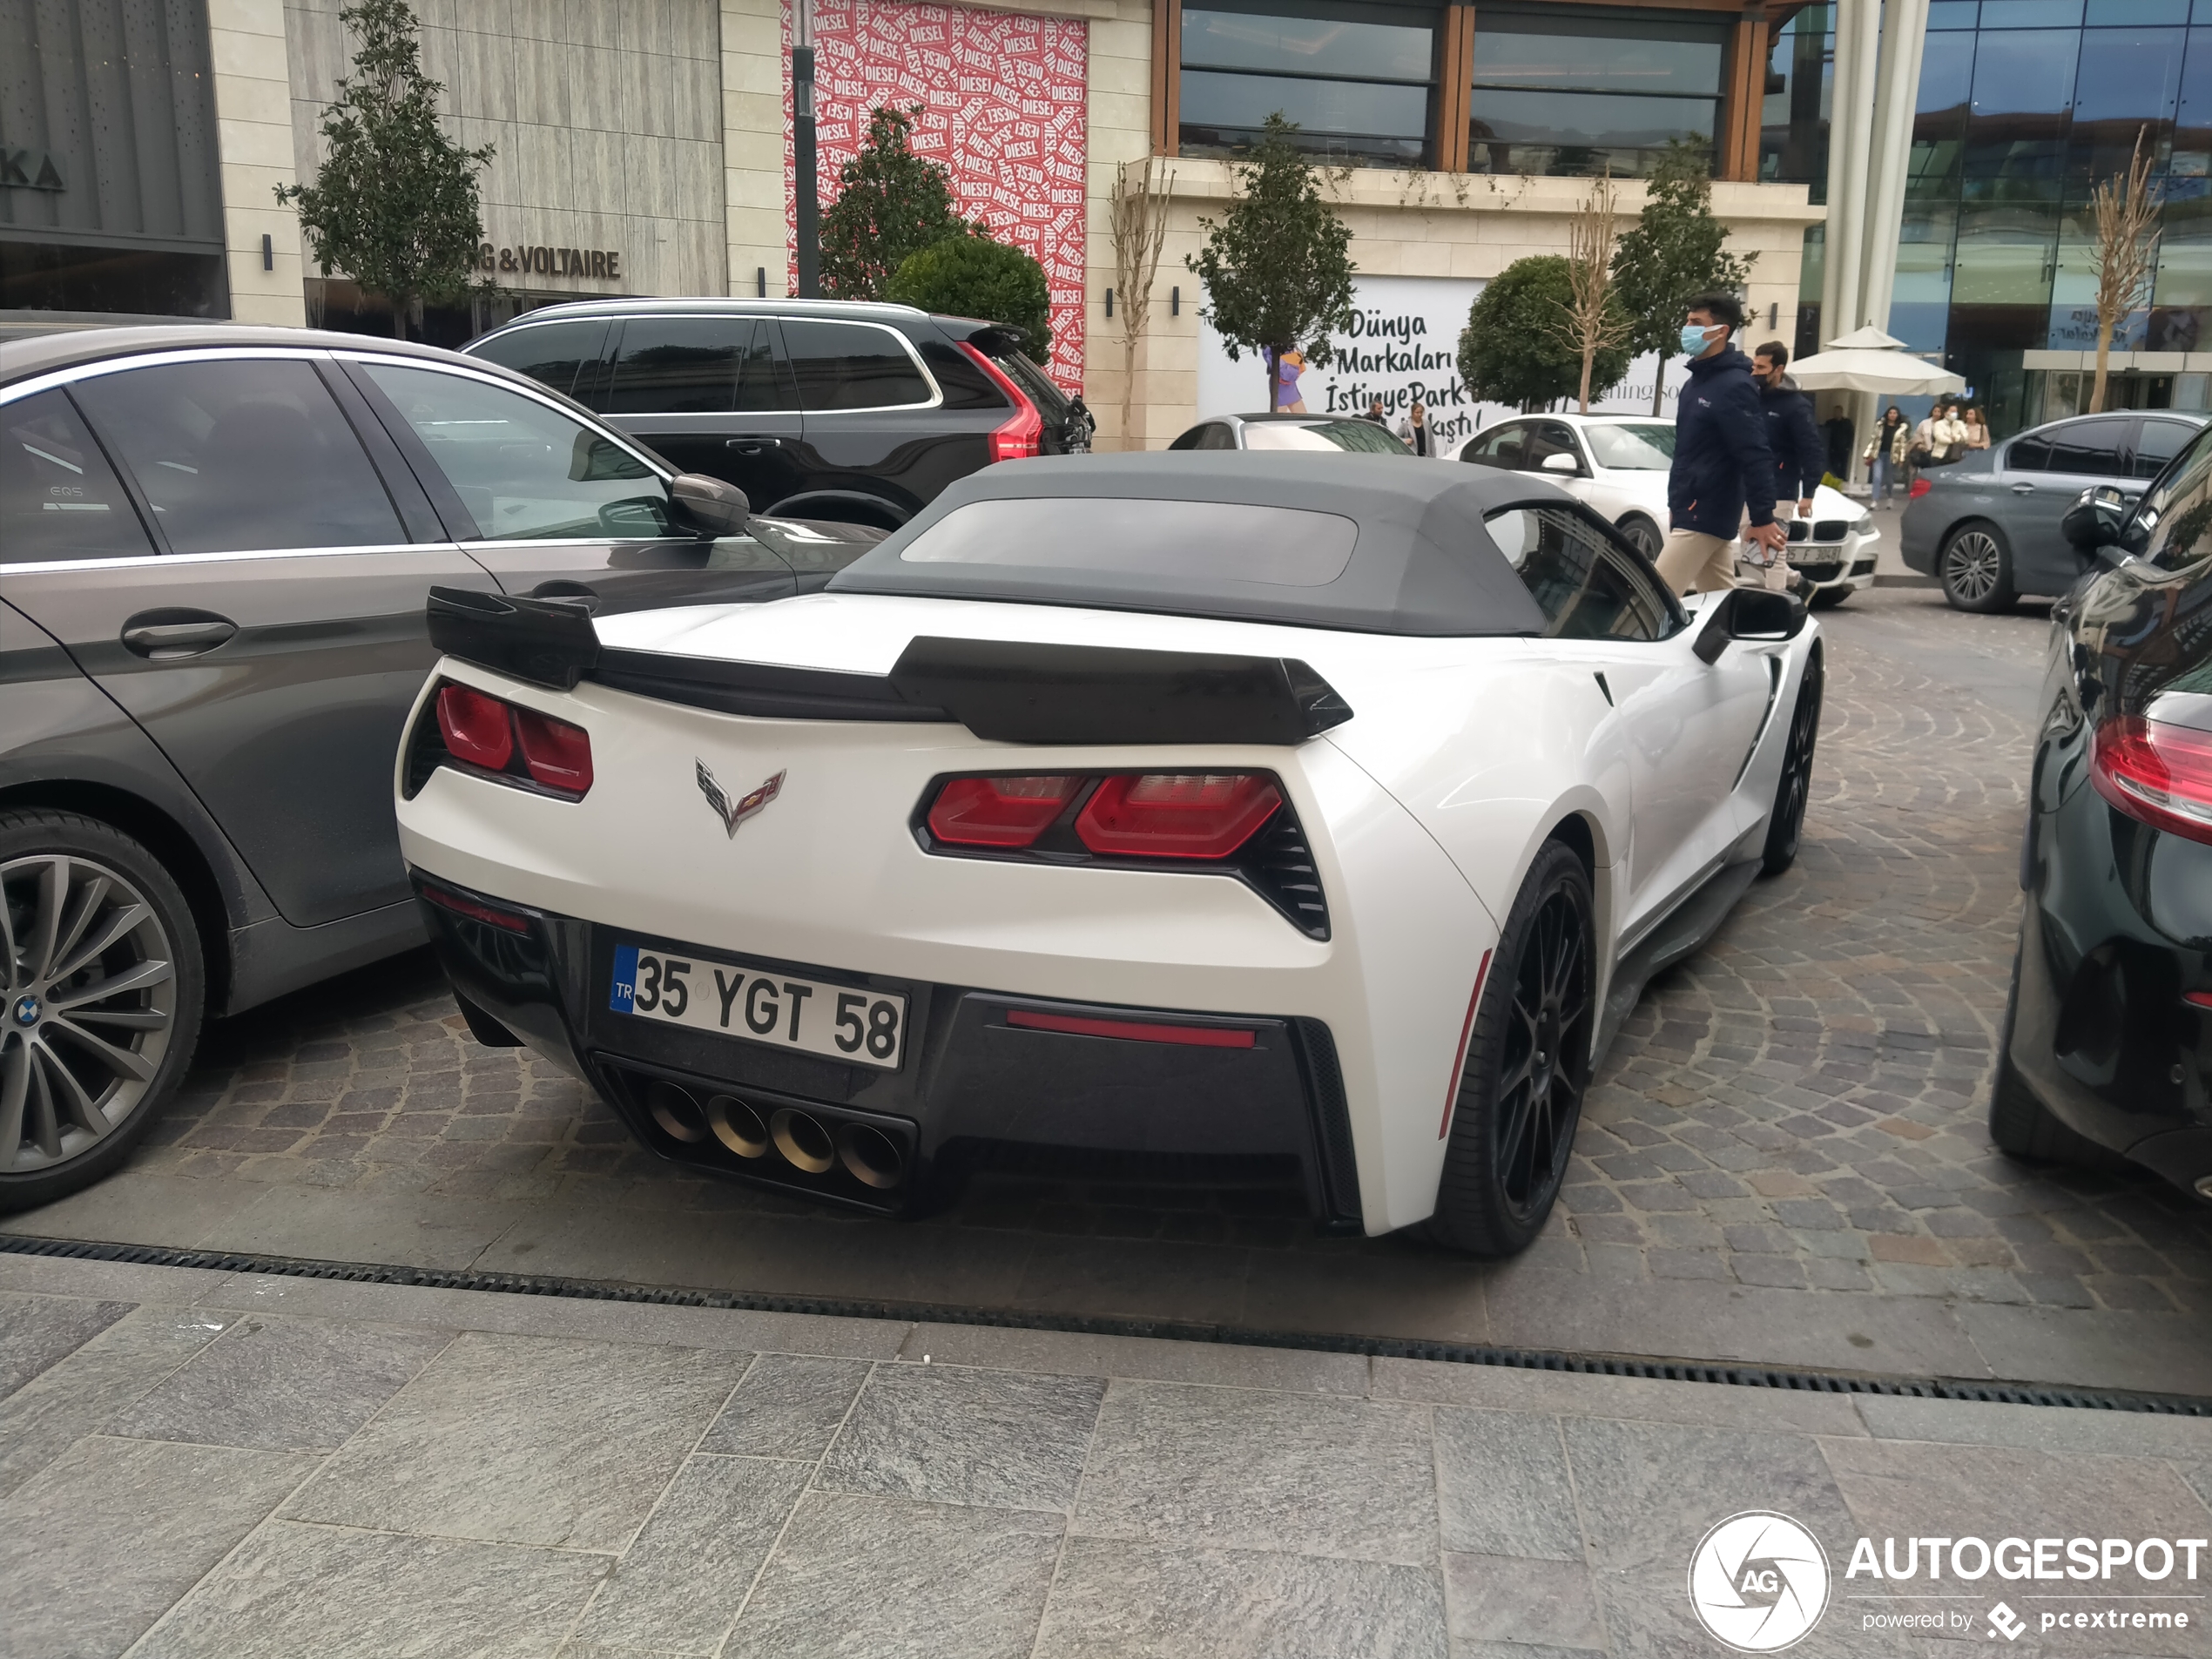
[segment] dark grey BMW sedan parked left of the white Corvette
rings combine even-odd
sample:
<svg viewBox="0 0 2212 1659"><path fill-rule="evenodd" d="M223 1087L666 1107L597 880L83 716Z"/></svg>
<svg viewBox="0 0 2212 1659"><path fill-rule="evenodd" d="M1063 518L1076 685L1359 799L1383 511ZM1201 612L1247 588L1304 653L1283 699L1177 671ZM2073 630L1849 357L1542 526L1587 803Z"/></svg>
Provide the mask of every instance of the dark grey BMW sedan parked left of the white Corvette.
<svg viewBox="0 0 2212 1659"><path fill-rule="evenodd" d="M768 599L880 540L741 526L728 484L451 352L0 343L0 1208L113 1168L204 1015L422 940L392 768L434 584Z"/></svg>

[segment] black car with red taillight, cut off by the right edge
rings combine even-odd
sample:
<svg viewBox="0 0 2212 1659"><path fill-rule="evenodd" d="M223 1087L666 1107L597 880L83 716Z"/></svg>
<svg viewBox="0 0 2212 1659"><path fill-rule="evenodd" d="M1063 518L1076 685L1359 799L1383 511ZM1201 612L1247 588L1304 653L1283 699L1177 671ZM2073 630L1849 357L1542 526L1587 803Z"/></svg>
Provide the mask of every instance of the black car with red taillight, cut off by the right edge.
<svg viewBox="0 0 2212 1659"><path fill-rule="evenodd" d="M2212 1197L2212 431L2066 529L1989 1133Z"/></svg>

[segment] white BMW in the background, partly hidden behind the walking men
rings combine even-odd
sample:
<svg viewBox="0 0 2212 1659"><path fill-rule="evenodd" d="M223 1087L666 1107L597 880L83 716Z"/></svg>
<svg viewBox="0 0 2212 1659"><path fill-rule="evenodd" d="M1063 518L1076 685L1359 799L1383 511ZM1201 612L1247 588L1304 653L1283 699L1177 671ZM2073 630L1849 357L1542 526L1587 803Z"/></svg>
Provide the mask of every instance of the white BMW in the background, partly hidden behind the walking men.
<svg viewBox="0 0 2212 1659"><path fill-rule="evenodd" d="M1659 557L1668 529L1666 476L1674 462L1672 420L1515 416L1469 438L1460 460L1544 473L1604 513L1646 557ZM1874 544L1880 535L1865 504L1820 484L1812 518L1790 524L1790 568L1805 580L1805 597L1818 608L1874 586Z"/></svg>

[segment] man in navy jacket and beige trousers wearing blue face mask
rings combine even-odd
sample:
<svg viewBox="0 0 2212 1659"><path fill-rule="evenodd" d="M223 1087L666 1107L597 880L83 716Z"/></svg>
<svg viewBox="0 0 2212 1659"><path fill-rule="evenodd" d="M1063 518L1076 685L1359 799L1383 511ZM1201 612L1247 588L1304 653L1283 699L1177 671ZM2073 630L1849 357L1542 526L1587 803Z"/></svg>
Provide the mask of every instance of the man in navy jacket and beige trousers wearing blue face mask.
<svg viewBox="0 0 2212 1659"><path fill-rule="evenodd" d="M1674 593L1736 584L1736 526L1754 564L1772 564L1790 544L1774 522L1774 451L1759 405L1752 361L1730 345L1743 327L1734 294L1699 294L1681 327L1690 385L1674 405L1674 467L1666 480L1672 518L1659 549L1659 580Z"/></svg>

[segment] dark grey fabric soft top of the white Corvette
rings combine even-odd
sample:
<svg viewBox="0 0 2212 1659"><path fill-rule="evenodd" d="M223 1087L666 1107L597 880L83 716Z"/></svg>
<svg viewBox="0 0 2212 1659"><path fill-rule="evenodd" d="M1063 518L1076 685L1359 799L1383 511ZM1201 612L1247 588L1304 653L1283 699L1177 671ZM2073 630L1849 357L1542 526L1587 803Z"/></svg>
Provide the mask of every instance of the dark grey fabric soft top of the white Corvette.
<svg viewBox="0 0 2212 1659"><path fill-rule="evenodd" d="M1396 456L1181 451L984 467L832 593L1159 611L1394 635L1537 635L1484 529L1566 491Z"/></svg>

